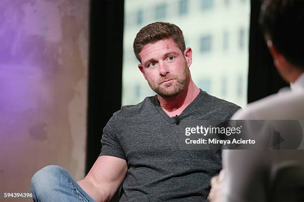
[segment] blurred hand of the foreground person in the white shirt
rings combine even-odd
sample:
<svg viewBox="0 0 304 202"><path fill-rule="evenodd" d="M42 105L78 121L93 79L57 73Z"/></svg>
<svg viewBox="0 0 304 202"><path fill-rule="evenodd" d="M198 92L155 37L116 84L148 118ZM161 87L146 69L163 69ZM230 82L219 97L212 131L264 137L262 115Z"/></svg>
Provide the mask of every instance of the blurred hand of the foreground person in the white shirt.
<svg viewBox="0 0 304 202"><path fill-rule="evenodd" d="M208 196L210 202L223 202L225 189L225 171L221 170L220 174L211 179L211 190Z"/></svg>

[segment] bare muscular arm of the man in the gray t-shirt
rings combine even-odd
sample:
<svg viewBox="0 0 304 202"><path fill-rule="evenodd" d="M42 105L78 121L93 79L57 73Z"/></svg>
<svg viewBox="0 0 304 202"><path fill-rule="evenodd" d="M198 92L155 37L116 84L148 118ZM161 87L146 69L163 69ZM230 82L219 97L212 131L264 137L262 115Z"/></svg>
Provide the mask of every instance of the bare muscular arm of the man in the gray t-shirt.
<svg viewBox="0 0 304 202"><path fill-rule="evenodd" d="M127 169L126 160L102 155L85 178L77 183L96 202L107 202L125 179Z"/></svg>

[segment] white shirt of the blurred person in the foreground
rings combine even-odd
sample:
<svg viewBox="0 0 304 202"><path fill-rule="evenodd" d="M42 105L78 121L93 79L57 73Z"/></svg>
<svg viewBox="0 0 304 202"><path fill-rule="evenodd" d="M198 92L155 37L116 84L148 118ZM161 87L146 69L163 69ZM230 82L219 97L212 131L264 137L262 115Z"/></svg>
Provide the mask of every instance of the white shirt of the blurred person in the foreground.
<svg viewBox="0 0 304 202"><path fill-rule="evenodd" d="M291 89L284 89L252 102L244 109L238 110L231 119L303 120L304 73L291 85ZM262 123L266 125L267 121ZM254 124L252 127L252 136L256 137L256 140L267 142L272 137L264 130L265 127L255 128ZM294 134L284 136L281 133L280 136L283 137L284 143L295 138ZM303 147L302 145L300 147ZM303 199L299 192L299 183L304 179L304 150L224 150L223 167L228 174L223 188L222 199L225 202L267 201L270 198L275 201ZM246 189L243 189L244 186Z"/></svg>

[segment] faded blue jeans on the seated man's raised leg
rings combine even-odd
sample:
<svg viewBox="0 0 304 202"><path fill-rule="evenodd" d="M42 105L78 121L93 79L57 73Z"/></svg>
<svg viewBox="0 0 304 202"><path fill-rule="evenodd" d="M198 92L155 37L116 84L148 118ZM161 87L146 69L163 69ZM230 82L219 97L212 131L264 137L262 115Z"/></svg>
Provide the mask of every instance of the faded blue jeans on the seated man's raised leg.
<svg viewBox="0 0 304 202"><path fill-rule="evenodd" d="M64 168L49 165L32 177L31 192L35 202L94 202Z"/></svg>

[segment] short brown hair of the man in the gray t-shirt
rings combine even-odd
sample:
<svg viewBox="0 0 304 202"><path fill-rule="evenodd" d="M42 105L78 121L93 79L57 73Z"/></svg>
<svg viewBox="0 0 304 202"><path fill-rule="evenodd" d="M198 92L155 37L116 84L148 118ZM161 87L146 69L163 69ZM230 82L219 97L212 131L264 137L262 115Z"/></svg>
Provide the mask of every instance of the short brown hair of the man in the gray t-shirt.
<svg viewBox="0 0 304 202"><path fill-rule="evenodd" d="M143 27L134 39L133 50L137 59L142 62L139 54L145 45L163 39L172 39L182 52L186 49L183 32L179 27L168 22L154 22Z"/></svg>

